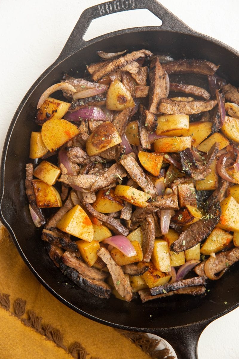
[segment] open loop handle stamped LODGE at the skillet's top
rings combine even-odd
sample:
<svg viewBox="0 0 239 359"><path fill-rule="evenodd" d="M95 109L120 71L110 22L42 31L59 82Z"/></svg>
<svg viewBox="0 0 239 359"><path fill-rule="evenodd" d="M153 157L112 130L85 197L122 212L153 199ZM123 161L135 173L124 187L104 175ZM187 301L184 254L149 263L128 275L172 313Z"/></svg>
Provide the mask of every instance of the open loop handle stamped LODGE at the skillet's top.
<svg viewBox="0 0 239 359"><path fill-rule="evenodd" d="M134 9L148 9L159 19L162 20L161 26L148 26L148 27L138 27L139 31L142 29L152 30L162 30L162 31L175 31L182 32L186 34L195 33L190 27L178 19L174 14L161 5L157 0L113 0L107 1L99 5L91 6L83 11L75 28L73 29L70 37L68 38L66 45L63 47L61 54L58 59L63 60L66 57L72 55L78 50L81 50L86 45L94 42L94 39L90 41L85 41L83 36L86 33L92 20L109 15L118 13L121 11L134 10ZM133 29L124 29L124 33L132 32ZM99 37L99 39L107 38L109 35L105 34Z"/></svg>

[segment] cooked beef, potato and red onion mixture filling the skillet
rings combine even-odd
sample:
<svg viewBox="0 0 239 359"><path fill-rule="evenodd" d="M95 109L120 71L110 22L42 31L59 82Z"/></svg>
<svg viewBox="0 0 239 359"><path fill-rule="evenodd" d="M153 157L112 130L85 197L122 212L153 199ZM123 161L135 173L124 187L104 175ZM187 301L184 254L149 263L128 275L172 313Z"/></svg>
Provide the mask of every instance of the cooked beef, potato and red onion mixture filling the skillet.
<svg viewBox="0 0 239 359"><path fill-rule="evenodd" d="M204 294L239 260L238 89L210 61L98 54L39 99L33 222L54 264L98 297Z"/></svg>

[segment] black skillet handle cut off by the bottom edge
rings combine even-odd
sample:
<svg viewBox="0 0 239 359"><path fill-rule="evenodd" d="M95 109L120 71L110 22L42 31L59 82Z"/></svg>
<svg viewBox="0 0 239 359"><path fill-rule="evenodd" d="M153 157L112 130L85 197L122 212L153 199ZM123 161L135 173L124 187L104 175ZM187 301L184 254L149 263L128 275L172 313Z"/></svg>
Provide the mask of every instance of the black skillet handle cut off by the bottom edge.
<svg viewBox="0 0 239 359"><path fill-rule="evenodd" d="M175 328L165 328L152 331L167 340L175 350L177 359L198 359L197 344L202 331L208 322L198 322Z"/></svg>

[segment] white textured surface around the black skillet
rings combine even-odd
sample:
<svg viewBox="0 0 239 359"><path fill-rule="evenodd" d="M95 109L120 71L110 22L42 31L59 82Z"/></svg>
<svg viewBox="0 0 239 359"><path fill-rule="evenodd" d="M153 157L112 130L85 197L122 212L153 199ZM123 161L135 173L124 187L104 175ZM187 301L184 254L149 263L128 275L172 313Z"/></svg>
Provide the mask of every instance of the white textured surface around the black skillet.
<svg viewBox="0 0 239 359"><path fill-rule="evenodd" d="M21 99L57 58L82 11L99 2L0 1L0 152ZM161 3L196 31L217 38L239 51L238 1L161 0ZM116 16L96 20L86 34L87 39L127 27L159 24L154 15L144 10L136 15L125 12ZM238 359L238 322L239 308L211 323L200 337L199 359Z"/></svg>

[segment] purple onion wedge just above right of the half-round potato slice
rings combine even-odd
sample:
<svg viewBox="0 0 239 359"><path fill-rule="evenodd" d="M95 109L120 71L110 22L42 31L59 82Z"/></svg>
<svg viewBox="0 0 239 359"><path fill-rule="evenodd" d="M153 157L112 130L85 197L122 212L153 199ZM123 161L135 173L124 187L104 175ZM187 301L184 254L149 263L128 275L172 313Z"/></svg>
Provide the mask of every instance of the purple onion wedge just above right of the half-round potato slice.
<svg viewBox="0 0 239 359"><path fill-rule="evenodd" d="M65 120L68 121L81 121L81 120L96 120L106 121L105 113L99 107L87 106L82 107L74 112L67 112L64 116Z"/></svg>

